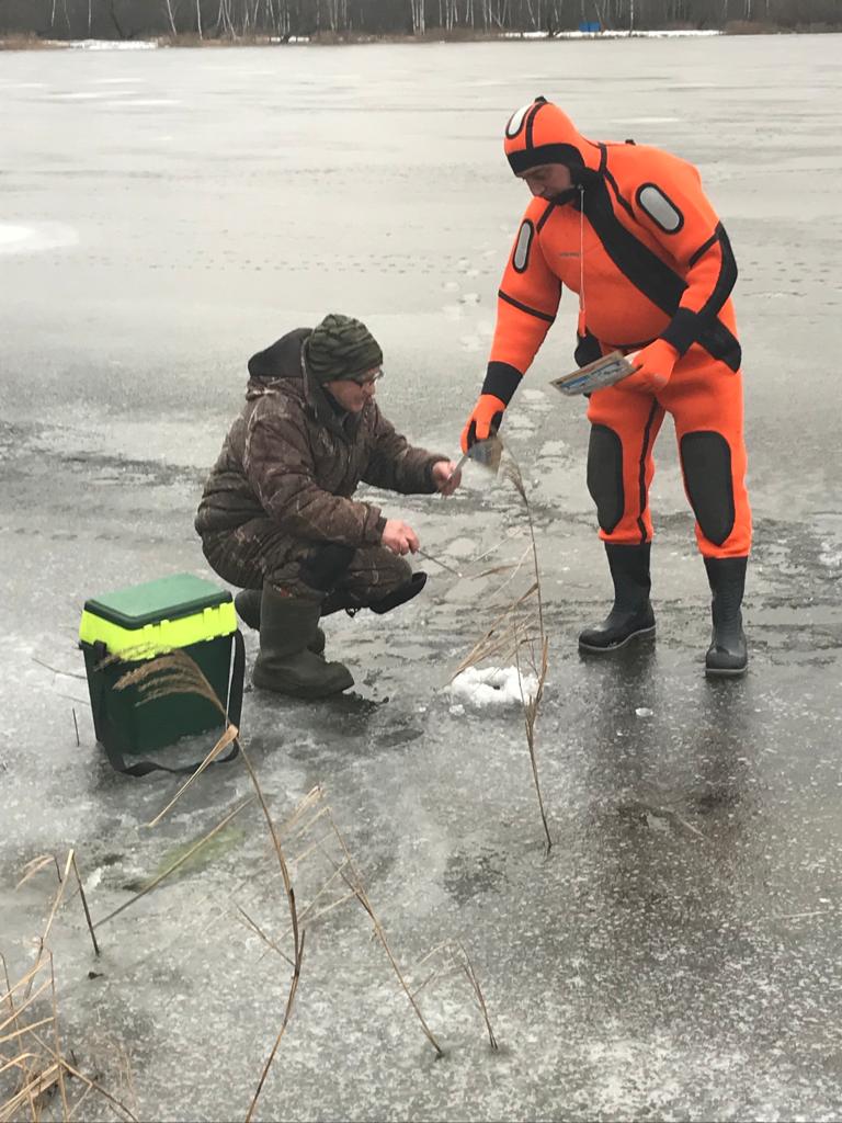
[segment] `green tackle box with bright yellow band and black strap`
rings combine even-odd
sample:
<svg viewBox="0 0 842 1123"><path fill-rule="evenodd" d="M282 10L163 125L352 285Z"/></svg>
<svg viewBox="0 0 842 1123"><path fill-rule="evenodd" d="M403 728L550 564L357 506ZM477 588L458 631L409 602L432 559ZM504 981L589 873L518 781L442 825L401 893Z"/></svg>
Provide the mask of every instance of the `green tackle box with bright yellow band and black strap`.
<svg viewBox="0 0 842 1123"><path fill-rule="evenodd" d="M212 582L179 573L91 597L84 604L79 640L97 740L119 770L145 775L163 768L148 763L127 768L121 758L210 729L223 731L222 714L207 697L173 693L138 705L144 695L136 685L116 688L123 675L167 651L177 648L194 660L231 723L239 724L242 637L231 594Z"/></svg>

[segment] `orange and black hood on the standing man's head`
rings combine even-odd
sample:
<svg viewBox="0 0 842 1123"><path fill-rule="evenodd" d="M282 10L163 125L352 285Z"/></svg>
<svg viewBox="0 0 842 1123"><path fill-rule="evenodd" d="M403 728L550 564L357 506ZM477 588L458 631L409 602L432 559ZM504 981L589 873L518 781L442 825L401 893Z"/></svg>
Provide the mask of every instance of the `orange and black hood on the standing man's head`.
<svg viewBox="0 0 842 1123"><path fill-rule="evenodd" d="M564 110L546 98L536 98L509 118L504 148L506 159L521 175L541 164L564 164L574 183L600 167L600 146L584 137Z"/></svg>

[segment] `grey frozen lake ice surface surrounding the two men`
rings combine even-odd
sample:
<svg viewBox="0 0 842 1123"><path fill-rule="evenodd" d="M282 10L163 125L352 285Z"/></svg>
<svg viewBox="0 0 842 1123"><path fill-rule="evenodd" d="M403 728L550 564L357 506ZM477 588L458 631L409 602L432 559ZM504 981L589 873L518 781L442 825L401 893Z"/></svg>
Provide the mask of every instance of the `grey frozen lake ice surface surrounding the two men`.
<svg viewBox="0 0 842 1123"><path fill-rule="evenodd" d="M552 850L519 706L451 713L445 690L529 581L528 555L507 587L505 573L481 576L516 564L528 539L511 484L472 467L451 500L386 501L466 577L424 563L424 594L400 612L331 618L328 650L356 697L250 692L242 721L278 824L322 786L445 1058L358 900L312 921L326 894L304 921L257 1117L842 1114L839 53L839 37L787 36L0 56L0 951L12 976L54 892L47 870L15 889L28 861L74 846L100 920L250 792L241 763L220 766L146 825L176 782L118 777L94 745L75 648L85 597L207 575L192 514L245 360L329 310L383 343L387 416L456 453L525 203L502 129L543 93L586 133L697 163L733 241L751 673L704 681L704 570L668 427L657 643L607 661L576 652L607 576L587 426L548 386L569 369L567 300L504 429L551 641L536 747ZM250 661L253 636L247 647ZM330 876L305 857L317 828L289 841L302 911ZM244 1119L290 980L244 913L289 953L285 902L255 805L102 924L101 959L70 901L51 944L80 1068L140 1119ZM497 1052L464 974L441 968L441 950L421 964L445 941L470 958ZM111 1108L89 1097L85 1110Z"/></svg>

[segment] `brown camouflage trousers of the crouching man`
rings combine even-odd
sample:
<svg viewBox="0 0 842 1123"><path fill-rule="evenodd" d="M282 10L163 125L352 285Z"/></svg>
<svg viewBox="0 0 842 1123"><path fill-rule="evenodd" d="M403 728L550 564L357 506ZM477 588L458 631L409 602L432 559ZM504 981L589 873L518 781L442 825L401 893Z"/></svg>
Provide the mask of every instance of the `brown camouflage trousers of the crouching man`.
<svg viewBox="0 0 842 1123"><path fill-rule="evenodd" d="M366 606L406 585L408 562L385 546L340 546L290 538L271 519L251 519L230 530L202 536L202 550L214 573L240 588L268 582L291 596ZM345 606L345 605L341 605Z"/></svg>

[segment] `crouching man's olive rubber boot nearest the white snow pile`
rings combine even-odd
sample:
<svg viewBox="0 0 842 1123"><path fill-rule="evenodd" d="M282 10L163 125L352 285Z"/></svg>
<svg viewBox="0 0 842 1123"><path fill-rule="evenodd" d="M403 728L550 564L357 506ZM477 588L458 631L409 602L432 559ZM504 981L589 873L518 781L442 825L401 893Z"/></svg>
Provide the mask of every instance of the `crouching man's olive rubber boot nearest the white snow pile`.
<svg viewBox="0 0 842 1123"><path fill-rule="evenodd" d="M308 648L315 637L321 605L283 596L263 586L260 601L260 654L251 681L262 690L296 699L322 699L354 685L341 663L326 663Z"/></svg>

